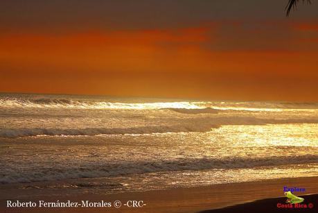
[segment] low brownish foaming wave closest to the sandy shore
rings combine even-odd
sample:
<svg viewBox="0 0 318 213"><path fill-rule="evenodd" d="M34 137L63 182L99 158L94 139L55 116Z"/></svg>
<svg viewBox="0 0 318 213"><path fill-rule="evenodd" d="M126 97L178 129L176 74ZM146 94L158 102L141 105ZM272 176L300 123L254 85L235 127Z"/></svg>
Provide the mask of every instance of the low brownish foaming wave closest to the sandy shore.
<svg viewBox="0 0 318 213"><path fill-rule="evenodd" d="M30 171L17 171L5 168L0 173L0 183L35 182L46 180L66 180L73 178L99 178L125 176L159 171L199 171L204 169L243 169L270 167L289 164L317 163L318 155L272 156L259 158L233 157L226 159L181 158L152 162L100 162L98 165L82 167L37 168ZM7 174L7 175L6 175Z"/></svg>

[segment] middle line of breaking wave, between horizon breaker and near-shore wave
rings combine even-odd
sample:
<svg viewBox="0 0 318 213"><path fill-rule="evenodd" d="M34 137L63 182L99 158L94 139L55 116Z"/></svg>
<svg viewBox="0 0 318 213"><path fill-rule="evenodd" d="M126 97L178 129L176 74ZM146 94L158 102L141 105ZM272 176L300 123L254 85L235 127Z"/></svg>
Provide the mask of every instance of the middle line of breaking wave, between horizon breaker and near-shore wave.
<svg viewBox="0 0 318 213"><path fill-rule="evenodd" d="M265 125L284 123L318 123L316 119L258 119L255 117L219 117L172 119L170 123L182 123L174 126L139 126L131 128L0 128L0 137L17 138L39 135L50 136L93 136L93 135L124 135L151 133L205 133L211 128L225 125Z"/></svg>

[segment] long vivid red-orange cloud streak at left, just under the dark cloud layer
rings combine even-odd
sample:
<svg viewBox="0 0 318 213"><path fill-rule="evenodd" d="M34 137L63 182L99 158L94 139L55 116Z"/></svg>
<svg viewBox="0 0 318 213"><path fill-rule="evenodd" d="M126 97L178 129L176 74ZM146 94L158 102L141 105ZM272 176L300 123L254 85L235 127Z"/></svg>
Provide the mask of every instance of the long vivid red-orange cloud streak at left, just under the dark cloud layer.
<svg viewBox="0 0 318 213"><path fill-rule="evenodd" d="M22 49L28 51L37 48L69 47L105 47L124 45L156 45L170 43L200 43L209 40L209 32L215 26L196 26L188 28L143 29L139 31L85 31L82 33L3 33L0 44L7 49Z"/></svg>

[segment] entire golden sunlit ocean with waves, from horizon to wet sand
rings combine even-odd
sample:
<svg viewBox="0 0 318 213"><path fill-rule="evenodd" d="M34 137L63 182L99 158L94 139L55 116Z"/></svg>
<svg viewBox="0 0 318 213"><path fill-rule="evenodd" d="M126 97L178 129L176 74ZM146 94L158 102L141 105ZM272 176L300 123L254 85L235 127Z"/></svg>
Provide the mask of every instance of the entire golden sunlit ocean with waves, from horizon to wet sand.
<svg viewBox="0 0 318 213"><path fill-rule="evenodd" d="M0 117L2 186L107 194L318 176L318 103L0 94Z"/></svg>

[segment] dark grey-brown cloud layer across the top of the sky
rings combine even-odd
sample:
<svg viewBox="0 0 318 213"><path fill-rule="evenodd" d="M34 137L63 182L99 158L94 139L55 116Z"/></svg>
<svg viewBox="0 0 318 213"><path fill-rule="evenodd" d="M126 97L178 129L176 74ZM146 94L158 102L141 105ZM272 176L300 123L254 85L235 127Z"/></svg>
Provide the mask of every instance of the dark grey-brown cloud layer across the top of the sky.
<svg viewBox="0 0 318 213"><path fill-rule="evenodd" d="M140 29L199 22L283 20L287 0L3 0L0 27L6 31ZM317 19L318 3L299 5L288 19Z"/></svg>

